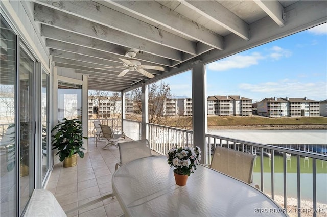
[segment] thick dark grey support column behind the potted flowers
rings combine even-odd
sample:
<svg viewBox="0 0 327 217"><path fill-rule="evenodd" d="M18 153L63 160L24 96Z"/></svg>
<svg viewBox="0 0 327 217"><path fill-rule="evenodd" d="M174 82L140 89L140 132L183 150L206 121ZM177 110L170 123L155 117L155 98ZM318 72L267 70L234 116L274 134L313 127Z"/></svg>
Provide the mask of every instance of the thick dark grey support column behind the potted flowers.
<svg viewBox="0 0 327 217"><path fill-rule="evenodd" d="M206 163L208 148L205 143L207 132L207 105L206 105L206 71L202 63L192 68L192 106L193 106L193 143L202 150L201 163Z"/></svg>

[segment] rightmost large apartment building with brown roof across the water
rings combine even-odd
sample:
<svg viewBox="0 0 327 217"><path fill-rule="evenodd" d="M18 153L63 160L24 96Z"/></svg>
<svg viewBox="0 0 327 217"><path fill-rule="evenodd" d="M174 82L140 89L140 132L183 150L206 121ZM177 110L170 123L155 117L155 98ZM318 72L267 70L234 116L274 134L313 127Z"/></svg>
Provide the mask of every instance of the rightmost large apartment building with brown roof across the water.
<svg viewBox="0 0 327 217"><path fill-rule="evenodd" d="M265 98L258 102L258 115L274 117L319 116L319 102L304 98Z"/></svg>

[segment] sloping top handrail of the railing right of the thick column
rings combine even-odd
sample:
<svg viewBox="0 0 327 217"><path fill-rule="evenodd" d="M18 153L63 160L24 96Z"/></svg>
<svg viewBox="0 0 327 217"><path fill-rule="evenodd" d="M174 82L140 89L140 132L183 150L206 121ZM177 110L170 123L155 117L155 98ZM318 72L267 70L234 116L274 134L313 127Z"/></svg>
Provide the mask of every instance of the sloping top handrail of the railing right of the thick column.
<svg viewBox="0 0 327 217"><path fill-rule="evenodd" d="M301 151L301 150L295 150L295 149L289 149L285 147L278 147L278 146L273 146L273 145L268 145L268 144L263 144L263 143L254 143L254 142L248 142L244 140L239 140L239 139L232 139L229 137L221 137L219 135L212 135L212 134L205 134L205 137L210 137L210 138L216 138L220 140L226 140L230 142L236 142L244 145L251 145L251 146L256 146L259 148L266 148L274 151L280 151L280 152L287 152L289 154L294 154L294 155L300 155L304 157L311 157L319 160L326 160L327 156L319 153L311 153L311 152L306 152L306 151Z"/></svg>

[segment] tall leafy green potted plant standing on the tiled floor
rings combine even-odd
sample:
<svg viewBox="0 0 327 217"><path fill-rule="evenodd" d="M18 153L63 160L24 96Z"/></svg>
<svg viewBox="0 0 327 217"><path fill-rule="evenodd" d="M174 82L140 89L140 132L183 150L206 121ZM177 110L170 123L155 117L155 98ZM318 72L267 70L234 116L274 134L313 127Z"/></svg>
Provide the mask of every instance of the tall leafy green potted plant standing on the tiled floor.
<svg viewBox="0 0 327 217"><path fill-rule="evenodd" d="M75 118L68 120L62 119L62 122L56 125L51 132L56 130L56 134L53 135L53 149L57 149L60 162L64 161L64 167L73 167L77 165L77 154L83 158L85 150L83 148L83 128L82 122Z"/></svg>

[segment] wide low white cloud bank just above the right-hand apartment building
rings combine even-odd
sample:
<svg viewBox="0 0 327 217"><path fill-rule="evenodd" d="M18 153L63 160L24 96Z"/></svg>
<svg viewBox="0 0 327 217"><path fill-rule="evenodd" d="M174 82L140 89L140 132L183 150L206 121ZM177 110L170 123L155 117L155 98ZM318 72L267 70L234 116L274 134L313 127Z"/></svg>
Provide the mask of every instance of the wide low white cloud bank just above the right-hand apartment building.
<svg viewBox="0 0 327 217"><path fill-rule="evenodd" d="M312 100L327 99L327 82L299 82L297 80L279 80L278 82L265 82L259 84L242 83L239 85L241 92L248 92L254 98L267 97L292 97L300 98L307 96ZM245 96L246 97L246 96ZM250 96L249 96L250 97Z"/></svg>

